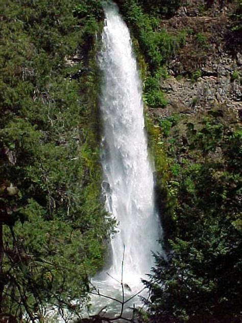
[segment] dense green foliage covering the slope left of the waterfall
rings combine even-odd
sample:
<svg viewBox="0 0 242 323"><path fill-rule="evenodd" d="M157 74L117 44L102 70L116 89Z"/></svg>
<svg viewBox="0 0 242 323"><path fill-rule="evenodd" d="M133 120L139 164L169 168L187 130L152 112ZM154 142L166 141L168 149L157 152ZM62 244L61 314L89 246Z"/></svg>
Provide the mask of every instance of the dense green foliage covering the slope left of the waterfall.
<svg viewBox="0 0 242 323"><path fill-rule="evenodd" d="M34 320L54 305L78 314L110 228L94 64L102 6L25 0L2 9L0 312Z"/></svg>

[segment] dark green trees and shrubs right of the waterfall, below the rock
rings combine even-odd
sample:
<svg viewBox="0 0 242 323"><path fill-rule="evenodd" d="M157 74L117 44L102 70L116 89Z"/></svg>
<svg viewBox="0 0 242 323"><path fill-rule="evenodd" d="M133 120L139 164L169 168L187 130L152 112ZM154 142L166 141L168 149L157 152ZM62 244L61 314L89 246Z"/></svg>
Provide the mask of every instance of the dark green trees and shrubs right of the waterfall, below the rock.
<svg viewBox="0 0 242 323"><path fill-rule="evenodd" d="M174 210L167 259L156 256L147 282L154 320L240 313L242 136L231 118L219 109L159 120Z"/></svg>

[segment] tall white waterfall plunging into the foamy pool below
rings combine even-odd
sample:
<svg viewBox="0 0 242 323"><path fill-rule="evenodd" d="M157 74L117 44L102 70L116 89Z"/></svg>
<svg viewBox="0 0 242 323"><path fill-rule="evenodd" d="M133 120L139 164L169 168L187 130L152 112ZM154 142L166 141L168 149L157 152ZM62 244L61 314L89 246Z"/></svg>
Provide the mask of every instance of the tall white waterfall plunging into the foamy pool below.
<svg viewBox="0 0 242 323"><path fill-rule="evenodd" d="M117 233L111 239L109 275L103 272L93 284L100 293L120 299L122 289L118 282L124 245L123 283L131 288L125 290L129 298L142 288L141 278L146 278L154 264L152 251L160 249L161 227L154 205L153 168L144 131L142 85L130 33L115 4L105 7L105 16L99 54L103 73L103 193L106 209L117 221ZM100 296L93 302L95 309L108 303ZM110 305L113 311L114 303ZM116 306L118 311L120 304Z"/></svg>

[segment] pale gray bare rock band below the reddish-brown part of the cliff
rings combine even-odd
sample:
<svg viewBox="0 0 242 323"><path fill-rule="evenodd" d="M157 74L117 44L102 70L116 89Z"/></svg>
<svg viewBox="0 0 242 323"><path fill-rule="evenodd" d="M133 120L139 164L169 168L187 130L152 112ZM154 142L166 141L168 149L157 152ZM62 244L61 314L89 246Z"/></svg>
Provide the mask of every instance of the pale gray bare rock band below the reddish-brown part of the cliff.
<svg viewBox="0 0 242 323"><path fill-rule="evenodd" d="M226 104L229 108L241 108L242 87L236 60L224 57L218 62L209 61L203 66L197 81L190 77L176 78L170 76L161 82L161 89L166 92L168 104L179 105L191 110L206 110L216 104Z"/></svg>

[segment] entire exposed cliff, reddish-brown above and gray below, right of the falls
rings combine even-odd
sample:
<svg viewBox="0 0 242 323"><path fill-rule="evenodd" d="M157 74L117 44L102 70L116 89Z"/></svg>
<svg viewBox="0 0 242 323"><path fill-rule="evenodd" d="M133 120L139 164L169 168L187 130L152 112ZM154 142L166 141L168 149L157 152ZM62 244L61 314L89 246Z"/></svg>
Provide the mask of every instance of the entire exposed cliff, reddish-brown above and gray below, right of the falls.
<svg viewBox="0 0 242 323"><path fill-rule="evenodd" d="M225 105L241 117L242 55L231 33L230 18L236 4L182 3L185 9L181 7L176 16L162 21L162 27L175 33L188 28L190 34L184 47L167 62L170 77L160 82L167 107L151 112L165 118L172 113L195 113ZM204 43L199 43L199 36Z"/></svg>

